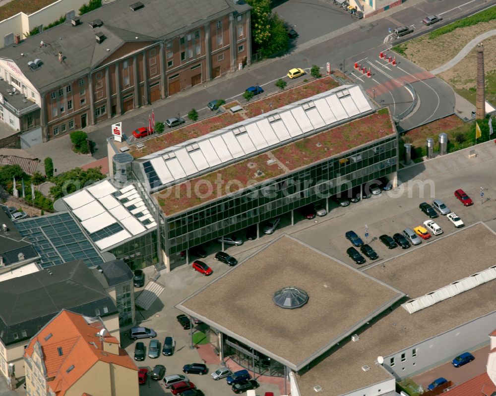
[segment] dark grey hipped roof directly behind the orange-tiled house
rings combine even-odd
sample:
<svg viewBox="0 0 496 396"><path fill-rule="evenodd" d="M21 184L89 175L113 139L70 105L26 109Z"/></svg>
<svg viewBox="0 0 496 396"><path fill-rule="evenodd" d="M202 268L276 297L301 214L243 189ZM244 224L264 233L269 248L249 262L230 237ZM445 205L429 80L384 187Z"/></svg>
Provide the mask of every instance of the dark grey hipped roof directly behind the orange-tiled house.
<svg viewBox="0 0 496 396"><path fill-rule="evenodd" d="M0 301L0 338L5 344L31 338L62 308L87 316L118 312L82 260L4 281Z"/></svg>

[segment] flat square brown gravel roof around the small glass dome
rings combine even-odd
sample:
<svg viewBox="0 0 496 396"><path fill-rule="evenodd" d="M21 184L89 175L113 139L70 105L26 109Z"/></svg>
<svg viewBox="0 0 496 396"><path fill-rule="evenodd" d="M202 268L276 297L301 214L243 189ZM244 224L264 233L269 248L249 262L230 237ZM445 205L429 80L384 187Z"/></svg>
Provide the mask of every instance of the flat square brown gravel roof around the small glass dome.
<svg viewBox="0 0 496 396"><path fill-rule="evenodd" d="M307 291L308 303L277 306L285 286ZM283 234L177 308L300 370L403 295Z"/></svg>

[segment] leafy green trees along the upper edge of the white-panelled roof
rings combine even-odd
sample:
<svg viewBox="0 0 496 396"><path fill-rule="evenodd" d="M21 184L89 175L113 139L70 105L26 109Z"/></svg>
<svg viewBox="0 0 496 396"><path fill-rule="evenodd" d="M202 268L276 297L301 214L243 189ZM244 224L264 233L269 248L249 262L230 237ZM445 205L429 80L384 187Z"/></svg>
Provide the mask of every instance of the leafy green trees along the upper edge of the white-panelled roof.
<svg viewBox="0 0 496 396"><path fill-rule="evenodd" d="M50 188L50 195L57 200L104 178L101 167L88 170L74 168L52 179L55 186Z"/></svg>

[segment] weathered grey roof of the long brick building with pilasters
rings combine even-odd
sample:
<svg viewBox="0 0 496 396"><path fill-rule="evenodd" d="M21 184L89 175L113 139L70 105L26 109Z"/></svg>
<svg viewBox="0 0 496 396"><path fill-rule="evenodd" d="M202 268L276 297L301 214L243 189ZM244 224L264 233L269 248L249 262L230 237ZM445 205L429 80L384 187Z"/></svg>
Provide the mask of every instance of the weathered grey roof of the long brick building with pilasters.
<svg viewBox="0 0 496 396"><path fill-rule="evenodd" d="M230 0L141 0L144 7L133 11L129 5L135 2L118 0L104 4L81 15L79 26L72 26L68 20L0 49L0 58L12 59L40 92L46 92L105 63L125 43L141 43L133 47L137 50L191 31L233 10L250 8ZM96 19L103 21L103 25L90 27L88 23ZM105 36L101 44L96 42L96 33ZM44 47L40 47L41 41ZM64 58L62 63L59 52ZM42 65L33 69L28 62L35 59L40 59Z"/></svg>

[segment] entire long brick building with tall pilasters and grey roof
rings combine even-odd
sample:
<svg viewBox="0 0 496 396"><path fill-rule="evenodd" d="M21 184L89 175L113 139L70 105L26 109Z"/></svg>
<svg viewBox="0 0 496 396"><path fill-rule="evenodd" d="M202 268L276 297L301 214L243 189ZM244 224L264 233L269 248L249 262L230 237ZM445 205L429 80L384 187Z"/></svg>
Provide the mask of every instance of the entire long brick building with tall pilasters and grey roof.
<svg viewBox="0 0 496 396"><path fill-rule="evenodd" d="M8 123L39 143L240 69L251 62L250 9L120 0L4 47L2 99L33 105Z"/></svg>

